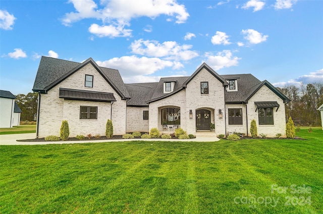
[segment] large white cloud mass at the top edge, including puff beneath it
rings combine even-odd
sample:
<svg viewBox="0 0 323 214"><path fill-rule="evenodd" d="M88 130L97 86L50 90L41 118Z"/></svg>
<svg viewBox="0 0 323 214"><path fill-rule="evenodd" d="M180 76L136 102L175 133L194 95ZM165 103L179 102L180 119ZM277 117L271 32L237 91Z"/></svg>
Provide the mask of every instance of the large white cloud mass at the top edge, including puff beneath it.
<svg viewBox="0 0 323 214"><path fill-rule="evenodd" d="M98 34L100 37L131 36L129 26L130 20L138 17L149 17L154 19L160 15L176 18L176 23L184 23L189 14L184 5L179 5L175 0L141 0L141 1L101 1L98 5L93 0L70 0L76 12L65 14L62 22L64 25L71 25L81 19L96 18L102 20L103 25L92 24L90 32ZM169 20L167 20L169 21ZM107 24L108 23L108 24ZM149 32L149 28L147 28ZM97 32L99 31L99 32Z"/></svg>

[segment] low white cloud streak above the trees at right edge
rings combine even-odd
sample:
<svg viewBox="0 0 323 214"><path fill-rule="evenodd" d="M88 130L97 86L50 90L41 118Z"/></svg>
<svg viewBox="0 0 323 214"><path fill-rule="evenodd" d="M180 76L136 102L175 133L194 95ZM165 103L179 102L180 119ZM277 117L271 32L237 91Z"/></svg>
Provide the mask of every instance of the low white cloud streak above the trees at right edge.
<svg viewBox="0 0 323 214"><path fill-rule="evenodd" d="M323 69L315 72L310 72L308 75L299 76L296 79L288 80L287 82L277 82L273 83L275 87L285 87L286 85L296 85L308 84L314 82L323 82Z"/></svg>

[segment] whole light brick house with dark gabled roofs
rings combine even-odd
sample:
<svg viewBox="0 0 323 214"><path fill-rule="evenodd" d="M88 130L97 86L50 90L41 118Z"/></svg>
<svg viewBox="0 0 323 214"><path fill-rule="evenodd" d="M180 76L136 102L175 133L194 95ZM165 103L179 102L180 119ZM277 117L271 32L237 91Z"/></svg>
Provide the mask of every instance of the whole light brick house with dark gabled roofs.
<svg viewBox="0 0 323 214"><path fill-rule="evenodd" d="M290 100L272 84L251 74L219 75L203 63L189 77L154 83L124 84L115 69L42 57L33 91L39 93L37 137L59 135L67 120L70 136L105 133L111 119L115 135L151 128L188 134L285 135L285 103ZM214 124L214 130L210 130Z"/></svg>

